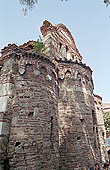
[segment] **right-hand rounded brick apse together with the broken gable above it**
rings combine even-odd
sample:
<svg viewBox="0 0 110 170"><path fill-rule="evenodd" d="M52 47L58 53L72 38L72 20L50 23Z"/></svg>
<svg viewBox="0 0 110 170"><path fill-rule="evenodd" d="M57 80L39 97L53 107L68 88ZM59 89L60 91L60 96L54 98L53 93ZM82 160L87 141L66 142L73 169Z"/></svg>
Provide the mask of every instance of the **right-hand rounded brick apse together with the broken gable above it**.
<svg viewBox="0 0 110 170"><path fill-rule="evenodd" d="M63 25L41 27L46 54L58 67L60 169L88 169L101 162L92 70L82 63L73 37Z"/></svg>

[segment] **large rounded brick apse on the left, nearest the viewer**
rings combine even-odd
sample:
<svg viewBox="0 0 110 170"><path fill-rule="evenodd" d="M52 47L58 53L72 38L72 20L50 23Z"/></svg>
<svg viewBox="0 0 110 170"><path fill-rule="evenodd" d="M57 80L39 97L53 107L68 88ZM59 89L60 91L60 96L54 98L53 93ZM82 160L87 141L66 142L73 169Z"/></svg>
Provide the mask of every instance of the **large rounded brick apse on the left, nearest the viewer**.
<svg viewBox="0 0 110 170"><path fill-rule="evenodd" d="M11 170L56 170L59 136L55 65L35 53L11 53L3 58L7 59L0 85L7 94L1 92L4 97L0 97L4 117L1 133L8 134L9 140L3 155L9 159Z"/></svg>

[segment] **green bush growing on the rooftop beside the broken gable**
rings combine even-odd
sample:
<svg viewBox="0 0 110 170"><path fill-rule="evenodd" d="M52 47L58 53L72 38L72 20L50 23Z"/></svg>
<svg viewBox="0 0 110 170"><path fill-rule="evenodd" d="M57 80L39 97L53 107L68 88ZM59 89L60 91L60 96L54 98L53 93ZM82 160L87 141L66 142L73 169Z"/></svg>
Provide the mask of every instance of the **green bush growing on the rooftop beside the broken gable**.
<svg viewBox="0 0 110 170"><path fill-rule="evenodd" d="M33 45L36 52L45 53L46 47L41 40L37 40Z"/></svg>

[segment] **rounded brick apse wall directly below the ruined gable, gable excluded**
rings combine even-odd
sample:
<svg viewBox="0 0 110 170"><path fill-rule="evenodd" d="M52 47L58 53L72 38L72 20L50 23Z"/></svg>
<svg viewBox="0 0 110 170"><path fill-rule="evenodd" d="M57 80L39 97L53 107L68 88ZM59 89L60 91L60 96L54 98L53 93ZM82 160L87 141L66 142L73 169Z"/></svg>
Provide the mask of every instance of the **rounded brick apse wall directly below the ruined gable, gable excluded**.
<svg viewBox="0 0 110 170"><path fill-rule="evenodd" d="M78 63L59 62L59 68L60 167L87 169L100 162L93 128L92 72Z"/></svg>

